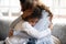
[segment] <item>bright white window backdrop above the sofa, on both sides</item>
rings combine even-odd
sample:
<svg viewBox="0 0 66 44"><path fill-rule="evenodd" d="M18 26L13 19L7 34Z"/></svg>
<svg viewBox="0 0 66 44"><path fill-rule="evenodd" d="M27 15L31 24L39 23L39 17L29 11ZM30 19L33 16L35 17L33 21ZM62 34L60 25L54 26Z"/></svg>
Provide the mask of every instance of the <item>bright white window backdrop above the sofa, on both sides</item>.
<svg viewBox="0 0 66 44"><path fill-rule="evenodd" d="M66 24L66 0L41 0L53 12L53 23ZM64 4L64 6L63 6ZM18 13L18 14L16 14ZM16 14L14 16L14 14ZM21 14L19 0L0 0L0 19L14 20ZM58 15L55 16L55 15ZM62 22L61 22L62 21Z"/></svg>

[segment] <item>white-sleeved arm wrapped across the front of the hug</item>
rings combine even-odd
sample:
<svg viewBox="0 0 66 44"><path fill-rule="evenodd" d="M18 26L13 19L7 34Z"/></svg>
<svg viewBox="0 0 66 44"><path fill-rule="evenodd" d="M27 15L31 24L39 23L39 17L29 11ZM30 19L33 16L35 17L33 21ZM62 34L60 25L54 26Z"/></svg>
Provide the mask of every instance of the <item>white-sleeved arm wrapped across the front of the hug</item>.
<svg viewBox="0 0 66 44"><path fill-rule="evenodd" d="M37 31L36 29L32 28L28 22L24 22L22 24L22 31L26 32L29 35L35 37L35 38L42 38L45 37L46 35L48 35L48 33L51 33L51 30L47 29L45 31Z"/></svg>

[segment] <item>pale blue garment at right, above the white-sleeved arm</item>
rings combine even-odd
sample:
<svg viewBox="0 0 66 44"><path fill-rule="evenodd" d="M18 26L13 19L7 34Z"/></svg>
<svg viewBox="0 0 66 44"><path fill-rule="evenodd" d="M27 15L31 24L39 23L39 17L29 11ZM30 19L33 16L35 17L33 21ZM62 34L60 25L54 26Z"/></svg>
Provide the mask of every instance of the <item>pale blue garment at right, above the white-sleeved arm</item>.
<svg viewBox="0 0 66 44"><path fill-rule="evenodd" d="M51 29L50 26L50 18L48 18L48 13L43 10L42 11L42 19L35 24L35 29L38 30L40 32L44 31L44 37L51 35Z"/></svg>

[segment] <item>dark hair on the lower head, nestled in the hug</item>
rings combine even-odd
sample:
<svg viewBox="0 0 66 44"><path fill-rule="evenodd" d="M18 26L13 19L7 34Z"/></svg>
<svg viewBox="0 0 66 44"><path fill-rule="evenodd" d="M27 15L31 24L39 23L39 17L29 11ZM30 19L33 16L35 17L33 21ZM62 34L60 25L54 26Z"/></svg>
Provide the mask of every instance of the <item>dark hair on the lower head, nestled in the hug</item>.
<svg viewBox="0 0 66 44"><path fill-rule="evenodd" d="M24 14L23 14L23 15L24 15ZM41 10L40 8L34 8L34 9L32 10L32 13L31 13L31 14L29 14L29 15L25 16L25 18L22 16L22 19L23 19L24 21L28 21L28 19L35 19L35 18L37 18L37 19L41 19L41 18L42 18L42 10Z"/></svg>

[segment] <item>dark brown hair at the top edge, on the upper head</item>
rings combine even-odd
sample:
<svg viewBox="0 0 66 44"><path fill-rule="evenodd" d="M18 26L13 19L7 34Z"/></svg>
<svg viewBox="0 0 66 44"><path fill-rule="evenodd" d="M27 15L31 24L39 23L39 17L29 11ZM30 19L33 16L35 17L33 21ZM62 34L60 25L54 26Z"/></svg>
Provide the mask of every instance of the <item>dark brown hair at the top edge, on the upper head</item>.
<svg viewBox="0 0 66 44"><path fill-rule="evenodd" d="M20 3L21 3L21 8L22 8L21 11L32 9L32 7L33 7L32 0L20 0Z"/></svg>

